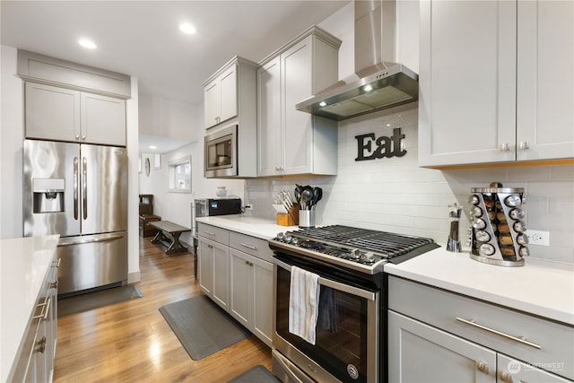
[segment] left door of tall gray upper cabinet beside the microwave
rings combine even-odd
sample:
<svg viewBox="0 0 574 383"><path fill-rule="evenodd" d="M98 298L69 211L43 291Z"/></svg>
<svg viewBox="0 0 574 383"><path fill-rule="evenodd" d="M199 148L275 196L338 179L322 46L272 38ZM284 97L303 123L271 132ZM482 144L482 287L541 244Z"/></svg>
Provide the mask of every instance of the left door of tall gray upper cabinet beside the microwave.
<svg viewBox="0 0 574 383"><path fill-rule="evenodd" d="M257 70L257 175L281 174L281 60Z"/></svg>

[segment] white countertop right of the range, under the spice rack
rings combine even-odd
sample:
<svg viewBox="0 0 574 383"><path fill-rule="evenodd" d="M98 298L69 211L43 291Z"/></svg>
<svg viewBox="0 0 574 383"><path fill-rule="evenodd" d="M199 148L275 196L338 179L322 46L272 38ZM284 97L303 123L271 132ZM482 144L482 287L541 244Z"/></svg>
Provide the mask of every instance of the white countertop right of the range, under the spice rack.
<svg viewBox="0 0 574 383"><path fill-rule="evenodd" d="M504 267L437 248L385 272L574 325L574 266L525 258Z"/></svg>

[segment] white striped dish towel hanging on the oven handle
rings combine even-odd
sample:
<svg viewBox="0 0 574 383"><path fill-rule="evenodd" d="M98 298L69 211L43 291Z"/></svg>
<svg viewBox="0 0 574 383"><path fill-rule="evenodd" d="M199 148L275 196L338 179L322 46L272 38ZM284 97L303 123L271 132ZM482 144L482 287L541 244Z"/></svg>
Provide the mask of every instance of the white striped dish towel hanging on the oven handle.
<svg viewBox="0 0 574 383"><path fill-rule="evenodd" d="M289 332L315 344L319 304L319 276L291 266Z"/></svg>

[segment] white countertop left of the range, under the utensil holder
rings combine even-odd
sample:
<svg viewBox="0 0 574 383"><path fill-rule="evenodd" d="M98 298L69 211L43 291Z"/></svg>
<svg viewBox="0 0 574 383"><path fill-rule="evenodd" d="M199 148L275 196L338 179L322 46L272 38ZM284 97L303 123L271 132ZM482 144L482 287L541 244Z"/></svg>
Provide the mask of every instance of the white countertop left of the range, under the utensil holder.
<svg viewBox="0 0 574 383"><path fill-rule="evenodd" d="M299 229L299 226L280 226L275 221L244 214L202 217L197 218L197 222L211 224L230 231L237 231L260 239L272 239L279 232Z"/></svg>

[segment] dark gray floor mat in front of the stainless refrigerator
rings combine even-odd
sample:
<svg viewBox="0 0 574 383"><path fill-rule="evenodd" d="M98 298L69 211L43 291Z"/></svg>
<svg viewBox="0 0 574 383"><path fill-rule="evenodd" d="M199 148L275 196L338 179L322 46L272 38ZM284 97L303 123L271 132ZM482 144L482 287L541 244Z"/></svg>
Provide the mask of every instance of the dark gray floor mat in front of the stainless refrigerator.
<svg viewBox="0 0 574 383"><path fill-rule="evenodd" d="M112 287L98 292L88 292L62 299L58 298L57 317L61 318L66 315L90 311L91 309L100 309L105 306L142 297L143 294L137 285L128 284L126 286Z"/></svg>

